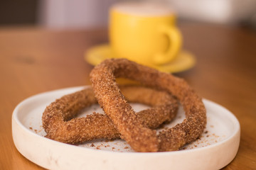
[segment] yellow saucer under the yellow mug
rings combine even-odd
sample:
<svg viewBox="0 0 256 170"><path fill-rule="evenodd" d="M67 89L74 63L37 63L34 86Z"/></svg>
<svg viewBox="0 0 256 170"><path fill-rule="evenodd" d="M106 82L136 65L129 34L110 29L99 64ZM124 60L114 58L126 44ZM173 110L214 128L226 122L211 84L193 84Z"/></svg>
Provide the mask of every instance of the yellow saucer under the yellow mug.
<svg viewBox="0 0 256 170"><path fill-rule="evenodd" d="M100 64L105 59L114 58L110 45L99 45L92 47L85 53L85 60L92 64ZM176 59L170 63L154 66L155 69L159 69L161 72L182 72L187 69L191 69L196 64L195 57L185 50L181 50Z"/></svg>

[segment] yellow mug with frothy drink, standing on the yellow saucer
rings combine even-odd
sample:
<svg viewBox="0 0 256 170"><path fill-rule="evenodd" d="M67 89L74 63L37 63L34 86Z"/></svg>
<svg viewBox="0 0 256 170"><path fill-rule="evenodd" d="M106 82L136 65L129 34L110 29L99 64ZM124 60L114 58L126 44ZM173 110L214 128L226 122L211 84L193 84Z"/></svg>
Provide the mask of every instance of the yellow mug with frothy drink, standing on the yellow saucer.
<svg viewBox="0 0 256 170"><path fill-rule="evenodd" d="M115 4L110 8L109 26L115 57L154 66L171 62L181 49L176 16L166 6Z"/></svg>

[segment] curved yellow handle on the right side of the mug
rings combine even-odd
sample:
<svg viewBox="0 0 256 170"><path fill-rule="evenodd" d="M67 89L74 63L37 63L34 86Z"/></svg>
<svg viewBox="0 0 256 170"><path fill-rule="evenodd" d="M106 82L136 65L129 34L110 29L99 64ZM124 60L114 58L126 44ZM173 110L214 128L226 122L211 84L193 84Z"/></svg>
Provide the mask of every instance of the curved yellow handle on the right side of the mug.
<svg viewBox="0 0 256 170"><path fill-rule="evenodd" d="M166 52L156 54L154 56L155 64L164 64L171 62L177 56L181 49L182 36L181 32L175 26L161 26L159 28L160 33L164 33L169 38L169 47Z"/></svg>

